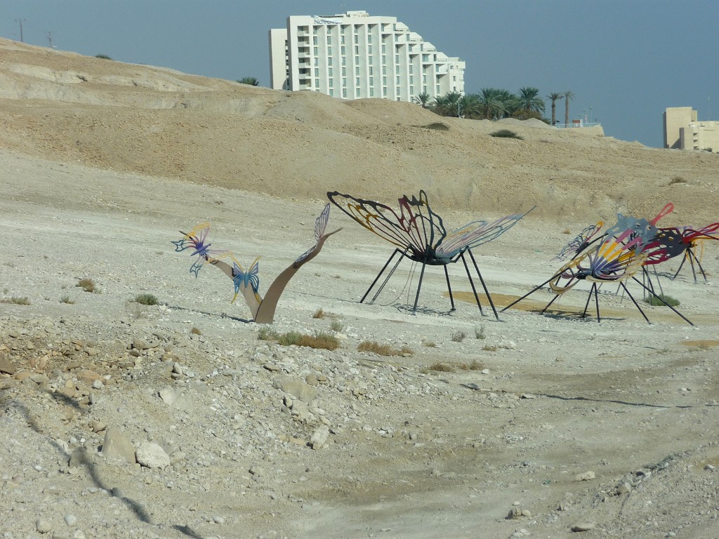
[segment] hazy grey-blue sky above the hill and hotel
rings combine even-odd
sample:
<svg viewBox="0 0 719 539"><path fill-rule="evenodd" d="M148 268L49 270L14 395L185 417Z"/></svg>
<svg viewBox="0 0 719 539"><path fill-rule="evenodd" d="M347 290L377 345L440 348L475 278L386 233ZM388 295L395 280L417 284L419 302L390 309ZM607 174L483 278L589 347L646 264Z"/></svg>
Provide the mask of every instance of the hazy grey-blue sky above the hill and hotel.
<svg viewBox="0 0 719 539"><path fill-rule="evenodd" d="M30 45L270 86L270 28L352 10L464 60L465 93L571 91L570 119L610 137L662 147L671 106L719 120L717 0L1 0L0 37L19 41L22 22Z"/></svg>

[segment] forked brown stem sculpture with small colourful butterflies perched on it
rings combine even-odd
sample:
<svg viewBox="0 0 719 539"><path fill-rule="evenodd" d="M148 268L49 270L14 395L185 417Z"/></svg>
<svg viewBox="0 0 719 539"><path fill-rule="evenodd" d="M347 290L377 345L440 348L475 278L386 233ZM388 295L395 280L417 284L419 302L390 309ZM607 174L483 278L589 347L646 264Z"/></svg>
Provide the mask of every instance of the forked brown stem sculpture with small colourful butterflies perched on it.
<svg viewBox="0 0 719 539"><path fill-rule="evenodd" d="M195 246L196 253L200 257L200 267L205 262L212 264L218 268L227 277L232 279L234 285L234 298L232 303L237 299L239 294L244 297L245 303L252 312L252 317L257 323L273 323L275 319L275 310L277 309L280 295L287 286L290 279L297 273L297 271L311 259L316 257L322 249L324 242L332 234L336 234L342 229L326 233L327 222L329 221L329 203L325 206L324 211L320 214L315 222L315 244L313 247L304 252L298 257L290 266L284 270L278 277L275 278L270 288L267 290L265 297L260 296L260 257L257 257L252 264L249 266L249 270L244 270L242 264L229 253L229 251L218 252L211 250L202 250L203 247L209 247L210 244L205 244L204 239L206 238L205 229L209 229L209 225L203 224L196 226L190 233L184 234L183 239L179 241L173 241L175 244L176 251L182 251L188 247ZM203 236L196 234L199 232ZM186 243L183 243L186 242ZM187 245L186 245L187 244ZM217 256L219 253L221 256ZM229 256L232 259L232 264L221 260L223 257ZM196 262L196 264L198 263ZM194 264L193 264L194 266Z"/></svg>

